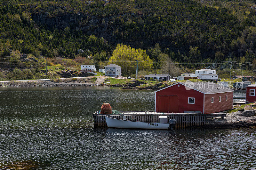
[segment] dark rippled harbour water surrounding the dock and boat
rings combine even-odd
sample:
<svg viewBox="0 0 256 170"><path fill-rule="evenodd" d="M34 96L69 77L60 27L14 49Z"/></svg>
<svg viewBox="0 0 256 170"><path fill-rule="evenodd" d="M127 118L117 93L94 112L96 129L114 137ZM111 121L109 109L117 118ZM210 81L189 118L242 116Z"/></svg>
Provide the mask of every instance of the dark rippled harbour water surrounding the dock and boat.
<svg viewBox="0 0 256 170"><path fill-rule="evenodd" d="M256 129L94 128L103 102L154 110L152 90L102 87L0 89L0 165L40 169L256 169Z"/></svg>

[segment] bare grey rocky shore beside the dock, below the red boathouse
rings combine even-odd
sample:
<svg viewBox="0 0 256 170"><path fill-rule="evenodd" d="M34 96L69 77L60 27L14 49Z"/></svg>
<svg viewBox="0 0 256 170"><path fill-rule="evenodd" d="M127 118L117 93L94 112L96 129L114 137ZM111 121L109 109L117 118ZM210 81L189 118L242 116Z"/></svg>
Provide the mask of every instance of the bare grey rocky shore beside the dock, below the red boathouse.
<svg viewBox="0 0 256 170"><path fill-rule="evenodd" d="M227 116L222 118L206 119L204 128L221 128L231 129L237 127L256 126L256 110L245 110L227 113Z"/></svg>

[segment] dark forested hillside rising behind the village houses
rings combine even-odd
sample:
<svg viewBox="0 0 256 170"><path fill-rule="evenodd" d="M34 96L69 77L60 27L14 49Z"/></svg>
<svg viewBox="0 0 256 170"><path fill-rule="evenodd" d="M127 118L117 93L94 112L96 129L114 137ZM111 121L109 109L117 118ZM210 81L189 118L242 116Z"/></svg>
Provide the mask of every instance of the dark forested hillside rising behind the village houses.
<svg viewBox="0 0 256 170"><path fill-rule="evenodd" d="M212 63L231 60L256 63L253 1L4 0L0 5L2 56L10 56L13 50L37 59L84 57L97 60L101 67L118 44L124 44L146 50L153 63L145 67L148 71L163 71L159 63L172 61L182 68L228 68ZM77 54L79 48L84 53Z"/></svg>

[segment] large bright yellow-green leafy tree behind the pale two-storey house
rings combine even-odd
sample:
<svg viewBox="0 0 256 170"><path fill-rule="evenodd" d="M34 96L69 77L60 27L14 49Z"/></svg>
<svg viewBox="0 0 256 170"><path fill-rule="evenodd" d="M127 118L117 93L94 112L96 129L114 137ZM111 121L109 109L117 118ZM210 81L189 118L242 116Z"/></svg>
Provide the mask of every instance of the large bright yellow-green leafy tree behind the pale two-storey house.
<svg viewBox="0 0 256 170"><path fill-rule="evenodd" d="M149 59L146 50L134 49L130 46L118 44L108 60L108 64L121 66L121 73L126 75L136 74L138 70L152 70L153 61Z"/></svg>

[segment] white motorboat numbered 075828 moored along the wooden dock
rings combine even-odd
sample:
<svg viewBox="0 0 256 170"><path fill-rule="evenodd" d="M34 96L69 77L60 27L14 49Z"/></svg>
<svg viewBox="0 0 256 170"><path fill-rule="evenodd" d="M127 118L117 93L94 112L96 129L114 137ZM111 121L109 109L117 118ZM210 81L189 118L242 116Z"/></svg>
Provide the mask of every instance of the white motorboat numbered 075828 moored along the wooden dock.
<svg viewBox="0 0 256 170"><path fill-rule="evenodd" d="M138 122L131 120L122 120L105 116L106 123L110 128L128 128L128 129L168 129L170 123L157 122Z"/></svg>

